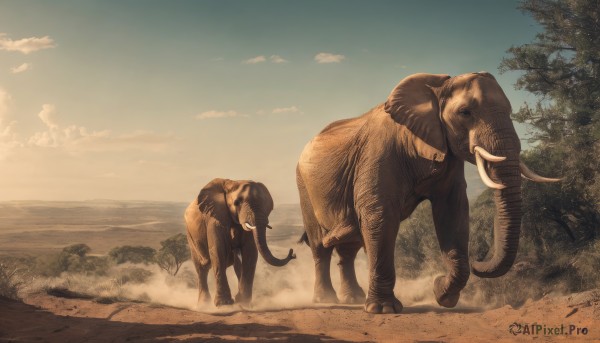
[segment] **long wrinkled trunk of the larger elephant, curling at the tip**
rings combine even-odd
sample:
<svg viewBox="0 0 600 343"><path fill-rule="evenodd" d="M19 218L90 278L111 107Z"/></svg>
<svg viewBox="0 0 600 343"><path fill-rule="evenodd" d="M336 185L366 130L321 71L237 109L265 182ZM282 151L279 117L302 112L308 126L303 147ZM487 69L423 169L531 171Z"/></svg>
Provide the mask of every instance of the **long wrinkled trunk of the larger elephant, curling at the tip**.
<svg viewBox="0 0 600 343"><path fill-rule="evenodd" d="M512 136L512 135L511 135ZM516 137L516 134L514 135ZM514 138L509 139L512 142ZM494 190L496 215L494 217L493 256L487 261L471 264L473 274L493 278L506 274L512 267L519 247L521 232L521 173L519 169L520 144L502 144L495 155L506 156L507 160L487 163L490 176L505 187Z"/></svg>

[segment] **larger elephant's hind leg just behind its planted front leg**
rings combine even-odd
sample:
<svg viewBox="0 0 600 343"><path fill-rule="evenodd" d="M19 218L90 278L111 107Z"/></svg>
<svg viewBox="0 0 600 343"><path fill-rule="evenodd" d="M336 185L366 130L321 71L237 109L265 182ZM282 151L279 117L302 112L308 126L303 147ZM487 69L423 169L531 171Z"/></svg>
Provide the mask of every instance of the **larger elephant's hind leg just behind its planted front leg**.
<svg viewBox="0 0 600 343"><path fill-rule="evenodd" d="M335 247L335 251L340 256L340 262L338 263L341 280L340 302L344 304L362 304L365 302L365 292L358 285L354 269L354 260L361 247L361 242L342 244Z"/></svg>

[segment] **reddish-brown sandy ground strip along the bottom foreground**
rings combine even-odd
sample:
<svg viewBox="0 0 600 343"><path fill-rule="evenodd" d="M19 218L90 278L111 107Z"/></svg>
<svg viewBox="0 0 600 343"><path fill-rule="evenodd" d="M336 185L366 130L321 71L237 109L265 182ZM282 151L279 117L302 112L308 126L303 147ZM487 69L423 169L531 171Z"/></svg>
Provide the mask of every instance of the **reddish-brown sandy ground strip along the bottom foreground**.
<svg viewBox="0 0 600 343"><path fill-rule="evenodd" d="M513 335L509 326L540 325L539 333ZM519 309L406 307L402 314L370 315L360 306L331 305L209 314L135 302L34 294L19 303L0 298L0 341L285 341L285 342L490 342L600 341L600 292L547 296ZM563 334L543 328L564 326ZM570 325L580 329L568 335ZM530 327L530 326L529 326ZM586 334L582 332L586 328ZM533 328L535 330L535 327Z"/></svg>

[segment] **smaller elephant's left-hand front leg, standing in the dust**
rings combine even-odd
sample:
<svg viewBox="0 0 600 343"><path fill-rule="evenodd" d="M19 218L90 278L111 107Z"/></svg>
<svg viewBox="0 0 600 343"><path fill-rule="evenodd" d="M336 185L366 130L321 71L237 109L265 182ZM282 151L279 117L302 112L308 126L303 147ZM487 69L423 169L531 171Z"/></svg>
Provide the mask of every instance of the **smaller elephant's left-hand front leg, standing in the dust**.
<svg viewBox="0 0 600 343"><path fill-rule="evenodd" d="M215 296L215 306L217 307L233 304L226 273L231 254L228 232L229 228L223 228L217 224L209 225L207 230L210 261L217 283Z"/></svg>

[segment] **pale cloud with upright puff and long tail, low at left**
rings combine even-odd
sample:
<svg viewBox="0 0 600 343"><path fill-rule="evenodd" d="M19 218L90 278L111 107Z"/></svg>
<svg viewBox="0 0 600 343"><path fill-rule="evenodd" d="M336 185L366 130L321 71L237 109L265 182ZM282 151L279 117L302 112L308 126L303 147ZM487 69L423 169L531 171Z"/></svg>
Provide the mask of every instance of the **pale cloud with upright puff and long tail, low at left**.
<svg viewBox="0 0 600 343"><path fill-rule="evenodd" d="M170 134L151 131L133 131L114 135L109 130L90 131L83 126L61 127L56 120L56 107L44 104L38 117L46 125L45 131L34 133L28 140L30 146L62 148L67 152L149 150L163 151L173 140Z"/></svg>

